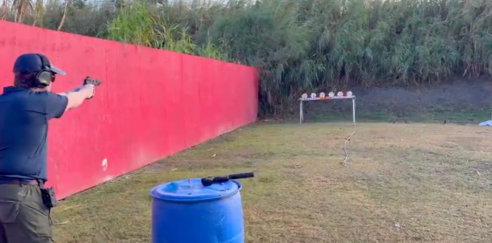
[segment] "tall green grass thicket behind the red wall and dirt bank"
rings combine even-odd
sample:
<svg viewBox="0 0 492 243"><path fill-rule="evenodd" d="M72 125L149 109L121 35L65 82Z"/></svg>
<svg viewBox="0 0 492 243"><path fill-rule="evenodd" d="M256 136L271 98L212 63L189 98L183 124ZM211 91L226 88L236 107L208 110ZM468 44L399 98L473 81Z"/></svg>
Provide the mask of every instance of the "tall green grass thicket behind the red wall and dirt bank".
<svg viewBox="0 0 492 243"><path fill-rule="evenodd" d="M258 67L262 114L283 112L308 91L438 84L492 71L491 0L3 0L1 6L5 20Z"/></svg>

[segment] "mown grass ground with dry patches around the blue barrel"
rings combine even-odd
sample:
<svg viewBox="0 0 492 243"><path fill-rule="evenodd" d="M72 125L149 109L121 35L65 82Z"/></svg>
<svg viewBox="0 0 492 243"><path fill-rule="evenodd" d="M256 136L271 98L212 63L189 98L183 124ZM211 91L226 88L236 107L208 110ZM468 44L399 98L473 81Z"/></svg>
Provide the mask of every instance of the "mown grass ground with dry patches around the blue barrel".
<svg viewBox="0 0 492 243"><path fill-rule="evenodd" d="M476 125L261 123L72 196L59 243L149 243L149 189L253 170L248 243L484 243L492 236L492 129Z"/></svg>

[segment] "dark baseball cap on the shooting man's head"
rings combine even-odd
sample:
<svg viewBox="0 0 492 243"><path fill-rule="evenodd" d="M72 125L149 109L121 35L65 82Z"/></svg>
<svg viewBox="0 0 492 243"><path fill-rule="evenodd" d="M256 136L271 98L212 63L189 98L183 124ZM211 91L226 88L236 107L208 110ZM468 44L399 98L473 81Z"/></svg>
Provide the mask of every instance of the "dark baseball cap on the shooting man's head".
<svg viewBox="0 0 492 243"><path fill-rule="evenodd" d="M14 62L13 71L20 74L37 73L46 67L54 74L65 75L65 71L51 65L50 60L43 54L22 54Z"/></svg>

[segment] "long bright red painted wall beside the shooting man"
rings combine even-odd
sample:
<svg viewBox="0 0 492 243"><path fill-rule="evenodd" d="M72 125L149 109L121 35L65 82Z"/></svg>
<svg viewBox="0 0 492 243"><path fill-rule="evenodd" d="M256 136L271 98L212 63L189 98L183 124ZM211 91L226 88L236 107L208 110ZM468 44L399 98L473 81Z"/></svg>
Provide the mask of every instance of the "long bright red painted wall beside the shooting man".
<svg viewBox="0 0 492 243"><path fill-rule="evenodd" d="M256 120L251 67L0 21L0 86L29 52L67 72L54 92L86 76L103 81L92 100L50 122L49 184L60 198Z"/></svg>

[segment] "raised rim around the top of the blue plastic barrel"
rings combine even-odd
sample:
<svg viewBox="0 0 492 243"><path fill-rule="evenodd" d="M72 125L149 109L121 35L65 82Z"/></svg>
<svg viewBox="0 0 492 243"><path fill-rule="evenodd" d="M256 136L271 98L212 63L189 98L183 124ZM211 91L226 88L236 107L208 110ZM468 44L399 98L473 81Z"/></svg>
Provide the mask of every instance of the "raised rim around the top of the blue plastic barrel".
<svg viewBox="0 0 492 243"><path fill-rule="evenodd" d="M186 180L186 179L184 179L184 180ZM200 178L193 178L191 180L200 180ZM178 180L178 181L181 181L181 180ZM154 188L152 188L150 190L150 195L154 199L159 199L159 200L169 201L169 202L203 202L203 201L217 200L217 199L233 196L233 195L237 194L238 192L240 192L241 189L243 189L243 184L241 184L239 181L237 181L237 180L230 180L230 181L235 183L238 186L238 188L234 189L234 190L230 190L230 191L224 191L224 193L220 193L220 194L208 194L208 195L202 195L202 196L197 196L197 197L186 197L186 196L176 196L176 195L171 196L171 195L164 195L164 194L157 193L156 192L157 188L159 188L162 185L165 185L167 183L171 183L171 182L167 182L167 183L160 184L160 185L157 185Z"/></svg>

